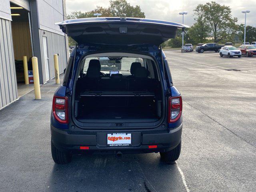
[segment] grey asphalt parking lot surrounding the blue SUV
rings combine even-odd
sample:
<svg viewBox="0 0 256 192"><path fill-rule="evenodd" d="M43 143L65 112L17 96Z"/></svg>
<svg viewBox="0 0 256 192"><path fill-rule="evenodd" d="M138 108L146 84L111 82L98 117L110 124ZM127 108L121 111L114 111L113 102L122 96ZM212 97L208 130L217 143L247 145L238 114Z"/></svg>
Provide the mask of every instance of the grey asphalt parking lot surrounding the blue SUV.
<svg viewBox="0 0 256 192"><path fill-rule="evenodd" d="M50 111L54 80L0 111L0 191L256 191L256 57L165 51L183 98L182 152L175 164L159 154L75 155L54 164Z"/></svg>

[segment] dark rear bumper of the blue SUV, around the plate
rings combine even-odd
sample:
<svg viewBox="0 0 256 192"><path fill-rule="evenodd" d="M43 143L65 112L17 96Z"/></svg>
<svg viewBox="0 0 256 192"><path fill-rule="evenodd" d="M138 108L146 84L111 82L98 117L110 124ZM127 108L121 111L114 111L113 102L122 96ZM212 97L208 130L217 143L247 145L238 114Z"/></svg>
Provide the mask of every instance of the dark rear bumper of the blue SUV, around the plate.
<svg viewBox="0 0 256 192"><path fill-rule="evenodd" d="M149 153L165 152L175 148L181 140L182 124L170 130L150 131L114 131L132 134L132 146L107 146L107 134L112 132L60 130L51 125L52 142L58 150L72 151L74 153L91 152L100 154L122 153ZM149 145L157 148L149 149ZM89 150L80 150L80 146L89 146Z"/></svg>

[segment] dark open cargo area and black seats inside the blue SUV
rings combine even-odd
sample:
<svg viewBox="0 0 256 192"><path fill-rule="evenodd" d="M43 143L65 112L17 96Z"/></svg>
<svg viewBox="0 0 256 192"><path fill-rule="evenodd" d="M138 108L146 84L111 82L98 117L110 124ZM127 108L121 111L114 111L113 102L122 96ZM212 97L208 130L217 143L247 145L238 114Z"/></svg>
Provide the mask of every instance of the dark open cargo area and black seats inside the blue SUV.
<svg viewBox="0 0 256 192"><path fill-rule="evenodd" d="M97 60L90 61L88 70L76 82L76 120L82 123L158 121L162 112L161 84L158 76L150 75L150 69L146 69L146 60L141 62L130 63L131 73L120 71L110 75L102 70L103 66L98 66ZM124 64L123 59L122 68L126 67ZM152 67L151 61L150 64ZM153 73L154 68L151 70Z"/></svg>

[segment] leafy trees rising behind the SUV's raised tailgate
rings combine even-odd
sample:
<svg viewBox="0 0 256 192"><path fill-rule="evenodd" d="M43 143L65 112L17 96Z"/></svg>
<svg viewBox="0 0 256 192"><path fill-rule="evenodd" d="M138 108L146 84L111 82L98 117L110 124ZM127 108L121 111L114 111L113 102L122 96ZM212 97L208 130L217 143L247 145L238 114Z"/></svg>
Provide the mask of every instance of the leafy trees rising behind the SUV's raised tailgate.
<svg viewBox="0 0 256 192"><path fill-rule="evenodd" d="M110 0L110 6L104 8L97 6L96 9L87 12L74 11L68 14L68 19L95 17L94 13L101 13L102 17L138 17L145 18L145 13L141 11L140 6L131 6L126 0ZM76 45L76 42L68 37L68 45Z"/></svg>

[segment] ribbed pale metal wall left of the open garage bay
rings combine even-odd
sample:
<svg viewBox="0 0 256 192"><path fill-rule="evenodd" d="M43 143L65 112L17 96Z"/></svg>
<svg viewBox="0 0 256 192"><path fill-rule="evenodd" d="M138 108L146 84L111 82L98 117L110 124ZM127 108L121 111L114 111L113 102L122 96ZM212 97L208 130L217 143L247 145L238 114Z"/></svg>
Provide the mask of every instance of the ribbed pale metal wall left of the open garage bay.
<svg viewBox="0 0 256 192"><path fill-rule="evenodd" d="M0 18L0 109L17 98L11 21Z"/></svg>

